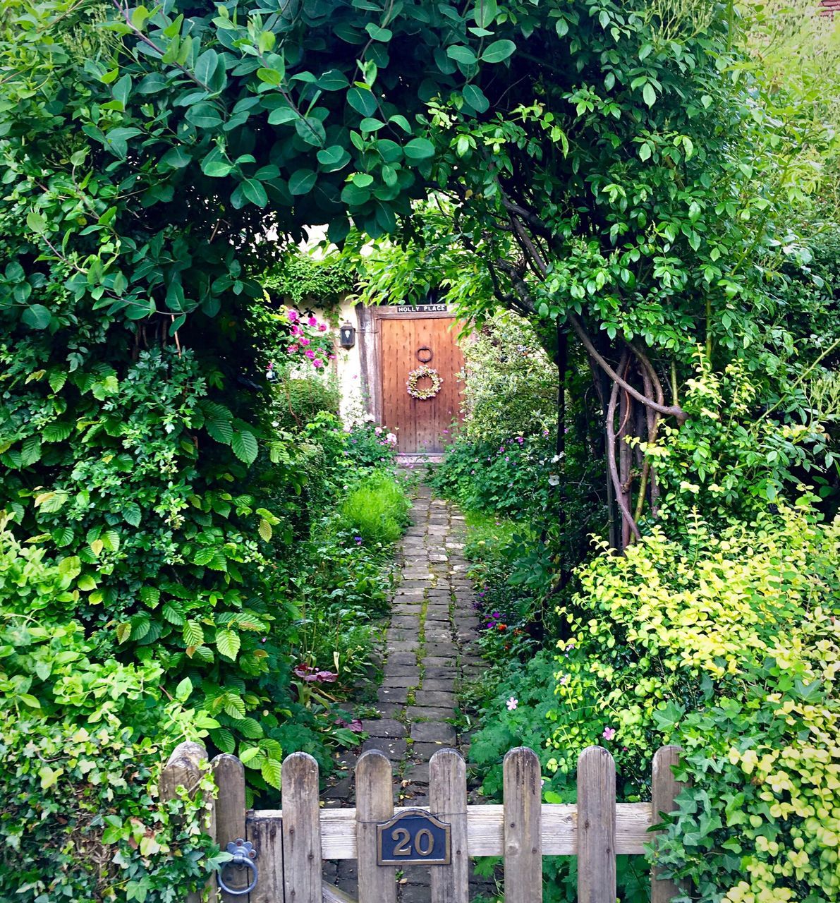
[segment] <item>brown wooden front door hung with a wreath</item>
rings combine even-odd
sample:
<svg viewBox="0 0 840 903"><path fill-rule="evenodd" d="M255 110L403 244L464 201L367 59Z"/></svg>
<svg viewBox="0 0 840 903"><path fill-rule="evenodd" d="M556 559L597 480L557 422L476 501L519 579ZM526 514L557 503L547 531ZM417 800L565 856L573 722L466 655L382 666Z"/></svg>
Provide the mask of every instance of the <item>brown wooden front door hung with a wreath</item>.
<svg viewBox="0 0 840 903"><path fill-rule="evenodd" d="M380 323L383 421L397 433L397 449L402 454L443 452L453 421L461 416L457 374L463 367L463 355L457 343L458 326L452 317L409 316ZM411 371L426 358L431 358L427 366L437 370L443 384L434 398L421 400L408 394L406 383ZM419 383L420 388L425 386L429 386L428 378Z"/></svg>

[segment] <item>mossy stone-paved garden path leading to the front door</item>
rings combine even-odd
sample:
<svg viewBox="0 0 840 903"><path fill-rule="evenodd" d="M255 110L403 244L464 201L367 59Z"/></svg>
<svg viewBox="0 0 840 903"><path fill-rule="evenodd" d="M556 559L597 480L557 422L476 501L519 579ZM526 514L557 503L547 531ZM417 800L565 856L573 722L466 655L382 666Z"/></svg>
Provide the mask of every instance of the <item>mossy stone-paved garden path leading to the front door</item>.
<svg viewBox="0 0 840 903"><path fill-rule="evenodd" d="M456 727L457 693L462 681L481 676L486 663L478 650L464 533L458 509L432 498L421 485L398 558L401 580L386 634L379 717L363 721L369 740L362 750L380 749L393 763L395 805L428 802L429 759L435 750L454 747L464 759L469 752L469 737ZM350 772L325 792L325 805L354 805L355 760L351 754L341 757ZM354 897L356 874L355 861L325 863L327 880ZM471 897L481 892L490 888L472 880ZM429 895L428 867L406 867L399 899L427 903Z"/></svg>

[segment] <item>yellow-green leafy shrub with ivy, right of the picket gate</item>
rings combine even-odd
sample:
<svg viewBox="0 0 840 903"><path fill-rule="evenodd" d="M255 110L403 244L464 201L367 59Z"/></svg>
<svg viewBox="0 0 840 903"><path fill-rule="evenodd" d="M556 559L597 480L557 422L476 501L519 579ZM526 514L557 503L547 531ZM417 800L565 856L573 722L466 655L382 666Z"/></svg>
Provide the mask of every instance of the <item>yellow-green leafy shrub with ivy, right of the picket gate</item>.
<svg viewBox="0 0 840 903"><path fill-rule="evenodd" d="M692 899L835 898L838 549L840 520L820 522L807 498L723 530L699 516L676 539L657 528L623 557L604 548L559 612L568 638L485 712L471 748L485 787L503 746L542 733L546 800L574 794L591 743L638 799L654 750L676 742L691 787L659 856ZM571 884L556 892L574 898Z"/></svg>

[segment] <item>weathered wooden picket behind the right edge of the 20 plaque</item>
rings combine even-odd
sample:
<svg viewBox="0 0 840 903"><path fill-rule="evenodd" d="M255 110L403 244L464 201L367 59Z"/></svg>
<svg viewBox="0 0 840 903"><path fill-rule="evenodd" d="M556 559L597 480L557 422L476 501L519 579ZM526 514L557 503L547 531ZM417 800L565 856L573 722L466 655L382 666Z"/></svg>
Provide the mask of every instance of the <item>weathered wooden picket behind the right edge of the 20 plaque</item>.
<svg viewBox="0 0 840 903"><path fill-rule="evenodd" d="M451 825L450 863L432 869L432 903L467 903L467 767L454 749L438 749L429 762L429 812Z"/></svg>

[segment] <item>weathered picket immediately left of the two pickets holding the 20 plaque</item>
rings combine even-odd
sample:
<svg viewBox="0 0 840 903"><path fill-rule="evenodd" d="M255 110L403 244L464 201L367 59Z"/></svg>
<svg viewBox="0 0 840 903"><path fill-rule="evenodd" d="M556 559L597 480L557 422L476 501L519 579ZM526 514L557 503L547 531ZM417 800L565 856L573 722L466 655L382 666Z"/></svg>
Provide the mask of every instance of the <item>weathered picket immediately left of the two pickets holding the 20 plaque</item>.
<svg viewBox="0 0 840 903"><path fill-rule="evenodd" d="M283 763L285 903L321 903L321 818L318 763L293 752Z"/></svg>

